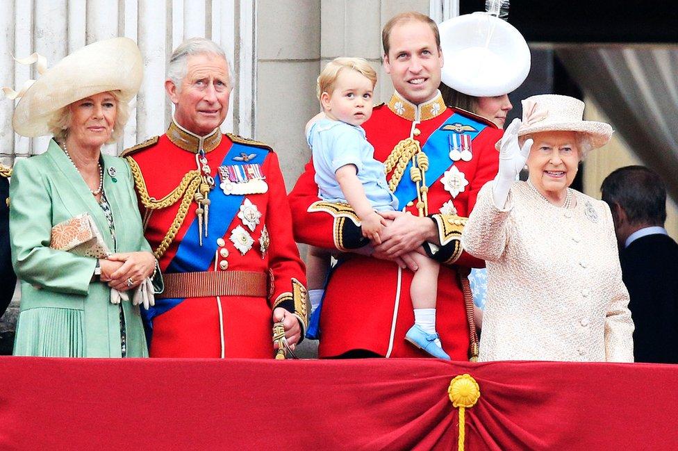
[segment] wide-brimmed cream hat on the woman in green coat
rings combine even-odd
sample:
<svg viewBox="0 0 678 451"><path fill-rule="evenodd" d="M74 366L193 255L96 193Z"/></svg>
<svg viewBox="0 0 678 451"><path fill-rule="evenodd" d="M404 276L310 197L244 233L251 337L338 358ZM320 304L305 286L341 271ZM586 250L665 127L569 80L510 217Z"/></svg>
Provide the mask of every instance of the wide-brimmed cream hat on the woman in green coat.
<svg viewBox="0 0 678 451"><path fill-rule="evenodd" d="M60 108L99 92L119 91L128 103L143 78L137 44L129 38L94 42L74 51L43 74L22 95L12 126L19 135L49 135L47 122Z"/></svg>

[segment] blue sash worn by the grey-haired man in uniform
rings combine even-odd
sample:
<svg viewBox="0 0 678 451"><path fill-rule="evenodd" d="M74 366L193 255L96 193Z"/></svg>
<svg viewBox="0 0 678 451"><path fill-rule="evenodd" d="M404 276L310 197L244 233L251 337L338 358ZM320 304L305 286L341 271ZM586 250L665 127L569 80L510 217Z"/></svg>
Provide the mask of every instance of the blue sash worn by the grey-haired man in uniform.
<svg viewBox="0 0 678 451"><path fill-rule="evenodd" d="M233 161L234 156L241 153L256 154L254 158L249 158L249 161ZM233 142L231 149L228 151L221 165L243 165L258 163L262 164L268 155L267 149L260 147L252 147ZM214 261L215 252L217 252L217 238L222 238L226 231L231 226L233 218L240 211L242 200L245 195L226 195L219 187L221 183L221 175L217 171L215 177L215 188L210 191L208 198L210 199L209 223L207 229L207 238L203 237L202 246L200 245L198 234L198 219L193 219L193 222L188 227L179 248L176 249L174 259L167 266L165 272L197 272L206 271L210 267L210 263ZM169 309L181 304L183 298L175 297L169 299L158 299L156 305L152 306L149 311L144 314L144 320L147 325L151 327L151 321L156 316L165 313Z"/></svg>

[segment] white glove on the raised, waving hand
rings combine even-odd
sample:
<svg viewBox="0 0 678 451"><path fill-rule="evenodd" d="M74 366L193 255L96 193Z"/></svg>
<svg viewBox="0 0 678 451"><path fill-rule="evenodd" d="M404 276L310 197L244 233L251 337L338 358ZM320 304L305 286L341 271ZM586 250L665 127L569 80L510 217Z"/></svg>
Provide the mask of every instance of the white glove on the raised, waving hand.
<svg viewBox="0 0 678 451"><path fill-rule="evenodd" d="M497 208L503 209L506 204L506 198L509 197L509 188L520 174L520 170L527 162L529 151L533 140L526 140L520 147L518 145L518 129L520 129L520 119L516 117L513 122L504 131L504 136L499 142L499 172L495 177L495 183L492 188L493 201Z"/></svg>

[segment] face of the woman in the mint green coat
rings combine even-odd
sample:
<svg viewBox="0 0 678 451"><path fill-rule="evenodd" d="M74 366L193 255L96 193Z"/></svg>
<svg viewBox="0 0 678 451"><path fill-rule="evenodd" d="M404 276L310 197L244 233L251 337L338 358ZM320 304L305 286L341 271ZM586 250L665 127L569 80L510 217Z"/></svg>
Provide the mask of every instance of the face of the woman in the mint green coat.
<svg viewBox="0 0 678 451"><path fill-rule="evenodd" d="M81 148L99 149L113 132L117 99L110 92L85 97L69 105L67 142Z"/></svg>

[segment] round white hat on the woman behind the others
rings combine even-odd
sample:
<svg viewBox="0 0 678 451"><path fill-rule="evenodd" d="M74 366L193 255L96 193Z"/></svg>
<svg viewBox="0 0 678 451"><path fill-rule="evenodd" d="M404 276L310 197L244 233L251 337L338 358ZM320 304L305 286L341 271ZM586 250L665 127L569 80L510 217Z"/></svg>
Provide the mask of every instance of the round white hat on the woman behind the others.
<svg viewBox="0 0 678 451"><path fill-rule="evenodd" d="M508 94L527 78L530 51L520 31L489 13L465 14L438 25L443 83L475 97Z"/></svg>

